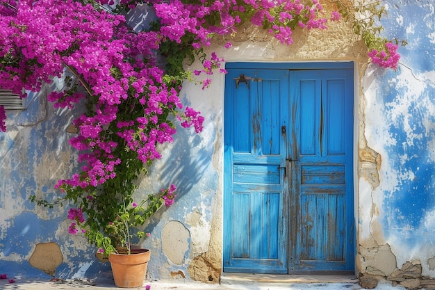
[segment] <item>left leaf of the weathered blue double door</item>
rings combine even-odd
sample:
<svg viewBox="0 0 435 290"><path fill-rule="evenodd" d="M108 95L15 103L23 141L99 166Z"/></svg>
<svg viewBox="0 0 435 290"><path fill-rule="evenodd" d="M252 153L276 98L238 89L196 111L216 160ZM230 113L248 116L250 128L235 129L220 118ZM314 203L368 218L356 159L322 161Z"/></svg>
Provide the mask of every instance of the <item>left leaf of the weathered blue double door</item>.
<svg viewBox="0 0 435 290"><path fill-rule="evenodd" d="M249 83L237 86L240 74L251 78ZM283 102L288 104L285 92L287 70L227 74L225 271L287 273L284 170L280 169L286 150L281 137L281 125L288 119L282 107Z"/></svg>

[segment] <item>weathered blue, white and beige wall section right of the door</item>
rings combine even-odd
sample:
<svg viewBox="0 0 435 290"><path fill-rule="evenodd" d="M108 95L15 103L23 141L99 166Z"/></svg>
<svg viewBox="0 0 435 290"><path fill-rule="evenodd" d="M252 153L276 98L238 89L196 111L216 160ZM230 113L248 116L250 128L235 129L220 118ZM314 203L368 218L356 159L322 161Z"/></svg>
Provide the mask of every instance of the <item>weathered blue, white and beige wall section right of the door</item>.
<svg viewBox="0 0 435 290"><path fill-rule="evenodd" d="M425 278L435 276L435 6L386 5L386 33L408 45L400 48L397 72L370 65L362 81L363 138L372 151L360 169L367 173L366 165L372 175L359 179L360 271L433 289Z"/></svg>

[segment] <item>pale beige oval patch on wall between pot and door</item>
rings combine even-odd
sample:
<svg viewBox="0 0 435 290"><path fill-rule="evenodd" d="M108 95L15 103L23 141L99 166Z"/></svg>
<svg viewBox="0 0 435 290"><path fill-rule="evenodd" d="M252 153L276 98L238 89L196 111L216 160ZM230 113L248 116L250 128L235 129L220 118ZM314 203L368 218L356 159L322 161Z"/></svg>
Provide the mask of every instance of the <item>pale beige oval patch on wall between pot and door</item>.
<svg viewBox="0 0 435 290"><path fill-rule="evenodd" d="M189 249L190 233L182 223L172 220L163 227L163 252L172 263L182 265Z"/></svg>

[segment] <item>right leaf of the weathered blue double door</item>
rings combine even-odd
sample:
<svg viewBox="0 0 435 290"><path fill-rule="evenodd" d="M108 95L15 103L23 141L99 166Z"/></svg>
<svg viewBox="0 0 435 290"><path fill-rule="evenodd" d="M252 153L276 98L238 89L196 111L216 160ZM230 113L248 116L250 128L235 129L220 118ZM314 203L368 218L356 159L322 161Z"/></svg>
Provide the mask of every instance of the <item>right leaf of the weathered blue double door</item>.
<svg viewBox="0 0 435 290"><path fill-rule="evenodd" d="M299 107L291 162L289 273L353 271L352 70L290 72ZM299 131L300 130L300 131Z"/></svg>

